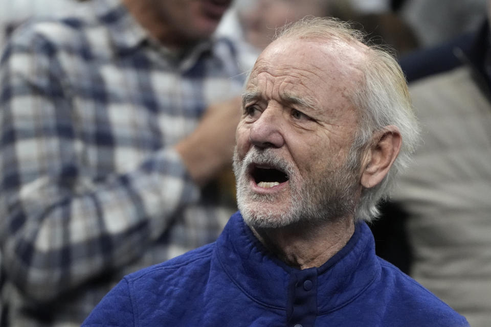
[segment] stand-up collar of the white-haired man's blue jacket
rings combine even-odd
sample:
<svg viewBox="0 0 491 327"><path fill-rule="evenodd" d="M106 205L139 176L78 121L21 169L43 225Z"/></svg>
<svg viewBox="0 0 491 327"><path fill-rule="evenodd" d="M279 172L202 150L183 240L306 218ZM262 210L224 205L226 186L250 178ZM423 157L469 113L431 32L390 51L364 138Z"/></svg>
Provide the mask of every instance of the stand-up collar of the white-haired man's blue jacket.
<svg viewBox="0 0 491 327"><path fill-rule="evenodd" d="M317 310L327 313L360 295L381 274L365 223L356 225L345 247L324 265L299 270L271 255L237 212L218 238L215 255L239 289L264 306L282 310L287 307L288 285L302 275L317 278Z"/></svg>

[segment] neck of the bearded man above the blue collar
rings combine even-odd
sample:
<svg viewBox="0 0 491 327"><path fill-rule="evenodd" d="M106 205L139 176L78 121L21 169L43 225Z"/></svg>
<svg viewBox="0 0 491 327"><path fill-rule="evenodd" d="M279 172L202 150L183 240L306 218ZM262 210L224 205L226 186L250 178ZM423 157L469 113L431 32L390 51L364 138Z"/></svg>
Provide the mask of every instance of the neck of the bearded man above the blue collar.
<svg viewBox="0 0 491 327"><path fill-rule="evenodd" d="M354 233L352 218L311 226L251 228L258 240L288 266L320 267L348 243Z"/></svg>

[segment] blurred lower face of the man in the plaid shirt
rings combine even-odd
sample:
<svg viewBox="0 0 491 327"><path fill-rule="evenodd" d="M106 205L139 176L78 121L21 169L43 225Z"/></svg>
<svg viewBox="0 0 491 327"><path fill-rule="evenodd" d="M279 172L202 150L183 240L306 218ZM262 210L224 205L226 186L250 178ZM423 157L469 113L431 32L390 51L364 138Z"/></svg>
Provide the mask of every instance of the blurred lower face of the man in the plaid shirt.
<svg viewBox="0 0 491 327"><path fill-rule="evenodd" d="M210 37L232 0L151 0L176 39L193 42Z"/></svg>

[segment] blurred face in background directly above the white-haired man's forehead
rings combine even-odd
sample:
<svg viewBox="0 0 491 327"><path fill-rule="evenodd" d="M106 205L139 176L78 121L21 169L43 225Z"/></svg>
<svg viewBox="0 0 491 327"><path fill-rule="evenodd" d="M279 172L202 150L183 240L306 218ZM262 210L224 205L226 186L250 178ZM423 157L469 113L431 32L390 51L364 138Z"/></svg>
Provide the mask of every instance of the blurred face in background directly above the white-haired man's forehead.
<svg viewBox="0 0 491 327"><path fill-rule="evenodd" d="M262 50L271 42L276 28L307 15L326 16L322 0L243 0L238 7L244 39Z"/></svg>

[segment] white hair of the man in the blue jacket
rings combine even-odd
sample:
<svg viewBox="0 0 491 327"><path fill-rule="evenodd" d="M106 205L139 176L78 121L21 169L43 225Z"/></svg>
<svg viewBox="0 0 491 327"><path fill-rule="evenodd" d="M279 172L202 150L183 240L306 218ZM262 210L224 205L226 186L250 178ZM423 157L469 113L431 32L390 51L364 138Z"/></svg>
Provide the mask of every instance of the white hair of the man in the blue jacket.
<svg viewBox="0 0 491 327"><path fill-rule="evenodd" d="M387 50L368 44L362 32L336 18L306 17L280 31L276 39L281 38L336 41L357 48L366 45L366 60L358 66L363 72L363 82L350 94L350 101L359 110L360 122L347 159L353 169L359 168L362 152L371 144L374 133L389 125L396 126L403 139L399 155L382 182L362 190L354 219L371 221L380 214L377 203L389 196L395 177L409 164L419 139L404 74Z"/></svg>

